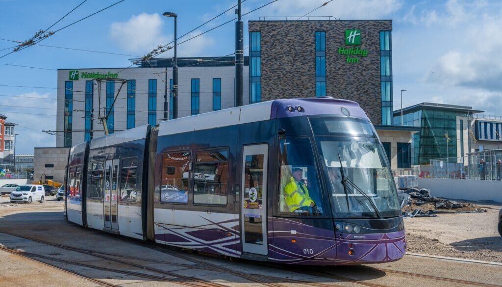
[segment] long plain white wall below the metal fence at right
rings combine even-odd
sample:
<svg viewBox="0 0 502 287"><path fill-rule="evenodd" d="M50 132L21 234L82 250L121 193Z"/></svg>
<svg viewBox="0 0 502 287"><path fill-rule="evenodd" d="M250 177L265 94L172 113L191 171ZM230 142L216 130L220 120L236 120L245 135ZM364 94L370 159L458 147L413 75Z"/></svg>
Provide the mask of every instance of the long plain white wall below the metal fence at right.
<svg viewBox="0 0 502 287"><path fill-rule="evenodd" d="M454 200L502 202L502 181L452 178L418 178L418 186L431 190L432 197Z"/></svg>

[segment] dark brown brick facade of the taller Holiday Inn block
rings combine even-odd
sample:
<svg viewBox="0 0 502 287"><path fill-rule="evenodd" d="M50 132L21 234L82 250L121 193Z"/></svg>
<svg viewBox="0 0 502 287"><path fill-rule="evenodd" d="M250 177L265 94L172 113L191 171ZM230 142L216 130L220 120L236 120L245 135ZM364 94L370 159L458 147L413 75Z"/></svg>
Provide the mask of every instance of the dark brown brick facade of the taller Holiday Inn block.
<svg viewBox="0 0 502 287"><path fill-rule="evenodd" d="M345 45L345 29L361 31L361 44ZM382 124L380 31L392 20L249 21L261 32L262 101L315 97L315 32L326 32L326 94L359 103L373 124ZM340 47L368 49L358 63L346 63Z"/></svg>

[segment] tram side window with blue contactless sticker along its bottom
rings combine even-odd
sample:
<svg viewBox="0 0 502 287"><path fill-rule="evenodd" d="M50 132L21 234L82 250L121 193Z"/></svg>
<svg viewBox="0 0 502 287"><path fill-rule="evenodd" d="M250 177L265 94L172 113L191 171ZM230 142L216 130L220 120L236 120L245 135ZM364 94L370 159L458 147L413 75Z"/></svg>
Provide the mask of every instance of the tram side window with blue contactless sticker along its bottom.
<svg viewBox="0 0 502 287"><path fill-rule="evenodd" d="M189 168L189 151L169 152L162 156L161 202L188 203Z"/></svg>

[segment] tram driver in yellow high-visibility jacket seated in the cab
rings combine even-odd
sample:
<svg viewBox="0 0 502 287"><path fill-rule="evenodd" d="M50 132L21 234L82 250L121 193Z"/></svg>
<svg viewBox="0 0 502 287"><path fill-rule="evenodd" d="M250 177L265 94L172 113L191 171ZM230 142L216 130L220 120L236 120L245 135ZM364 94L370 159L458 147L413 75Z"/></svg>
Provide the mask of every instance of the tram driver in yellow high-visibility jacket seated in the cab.
<svg viewBox="0 0 502 287"><path fill-rule="evenodd" d="M284 187L284 197L289 212L308 212L319 213L316 209L316 203L309 196L308 184L303 178L303 169L299 167L293 168L293 176L288 184Z"/></svg>

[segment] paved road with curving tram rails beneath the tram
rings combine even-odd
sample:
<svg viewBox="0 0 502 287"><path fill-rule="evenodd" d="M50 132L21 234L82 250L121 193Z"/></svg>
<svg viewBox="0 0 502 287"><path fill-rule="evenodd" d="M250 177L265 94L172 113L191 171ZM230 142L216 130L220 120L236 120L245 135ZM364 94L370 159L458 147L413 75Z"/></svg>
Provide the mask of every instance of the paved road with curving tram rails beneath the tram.
<svg viewBox="0 0 502 287"><path fill-rule="evenodd" d="M502 286L502 265L411 255L312 268L230 261L86 230L62 210L0 204L0 286Z"/></svg>

